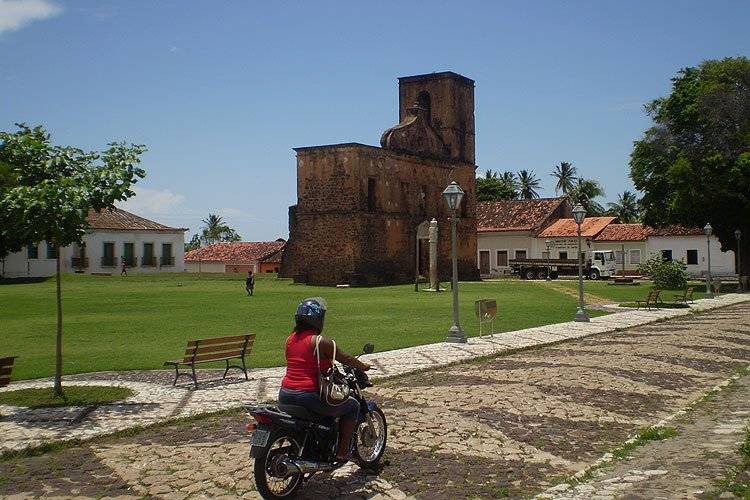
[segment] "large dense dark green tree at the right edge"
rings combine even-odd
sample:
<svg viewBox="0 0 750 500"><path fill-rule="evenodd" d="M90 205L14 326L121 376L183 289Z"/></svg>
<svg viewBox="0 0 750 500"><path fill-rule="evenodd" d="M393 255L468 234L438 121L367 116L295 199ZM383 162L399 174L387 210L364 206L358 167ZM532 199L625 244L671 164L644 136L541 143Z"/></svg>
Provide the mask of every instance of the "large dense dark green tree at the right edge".
<svg viewBox="0 0 750 500"><path fill-rule="evenodd" d="M740 229L742 275L750 274L750 60L682 69L646 111L654 124L630 157L644 221L710 222L723 250L737 250Z"/></svg>

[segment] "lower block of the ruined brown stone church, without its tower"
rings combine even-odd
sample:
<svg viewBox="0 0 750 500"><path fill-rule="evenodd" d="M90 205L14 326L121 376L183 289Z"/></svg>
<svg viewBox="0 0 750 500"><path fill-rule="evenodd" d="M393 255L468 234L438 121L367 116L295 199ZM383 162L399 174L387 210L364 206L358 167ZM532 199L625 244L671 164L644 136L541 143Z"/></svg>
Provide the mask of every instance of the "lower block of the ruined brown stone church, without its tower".
<svg viewBox="0 0 750 500"><path fill-rule="evenodd" d="M438 271L447 281L450 226L441 193L451 180L467 193L459 275L477 279L474 165L362 144L298 149L298 204L290 210L281 275L326 285L412 282L416 228L435 217Z"/></svg>

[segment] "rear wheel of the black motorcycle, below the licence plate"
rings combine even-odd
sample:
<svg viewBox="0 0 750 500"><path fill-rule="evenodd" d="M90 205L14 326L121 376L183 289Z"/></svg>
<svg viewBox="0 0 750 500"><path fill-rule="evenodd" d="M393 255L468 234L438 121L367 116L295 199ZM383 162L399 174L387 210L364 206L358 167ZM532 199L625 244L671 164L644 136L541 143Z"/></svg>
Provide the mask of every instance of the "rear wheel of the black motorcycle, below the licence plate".
<svg viewBox="0 0 750 500"><path fill-rule="evenodd" d="M288 498L302 485L302 473L283 464L286 458L298 458L300 446L294 437L280 432L271 436L271 444L255 458L255 486L263 498Z"/></svg>

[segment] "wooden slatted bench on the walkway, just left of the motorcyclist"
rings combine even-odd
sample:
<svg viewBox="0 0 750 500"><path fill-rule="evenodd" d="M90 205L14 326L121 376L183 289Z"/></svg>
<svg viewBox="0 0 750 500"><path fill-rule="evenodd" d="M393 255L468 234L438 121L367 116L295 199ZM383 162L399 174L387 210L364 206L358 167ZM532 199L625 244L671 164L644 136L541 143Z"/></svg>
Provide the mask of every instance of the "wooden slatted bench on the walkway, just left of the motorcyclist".
<svg viewBox="0 0 750 500"><path fill-rule="evenodd" d="M192 378L195 387L198 387L198 378L195 376L195 365L198 363L210 363L212 361L226 361L227 367L224 370L222 378L226 378L230 368L237 368L238 370L242 370L245 374L245 380L248 380L245 356L250 354L254 340L255 334L190 340L185 348L185 356L182 359L165 361L164 366L174 366L175 377L172 385L176 385L177 379L180 377L188 377ZM242 362L242 366L230 365L229 361L232 359L239 359ZM189 366L191 373L180 373L180 366Z"/></svg>

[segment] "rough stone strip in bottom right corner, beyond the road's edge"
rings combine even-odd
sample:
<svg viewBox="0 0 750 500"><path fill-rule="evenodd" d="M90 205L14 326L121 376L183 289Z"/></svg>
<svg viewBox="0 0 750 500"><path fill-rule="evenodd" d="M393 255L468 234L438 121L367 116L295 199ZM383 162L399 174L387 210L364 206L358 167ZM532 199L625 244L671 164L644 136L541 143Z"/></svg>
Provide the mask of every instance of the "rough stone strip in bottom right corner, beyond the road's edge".
<svg viewBox="0 0 750 500"><path fill-rule="evenodd" d="M539 498L717 498L726 493L728 472L741 466L739 446L750 424L750 377L713 393L667 425L677 436L636 448L624 461L597 471L575 488L563 484Z"/></svg>

